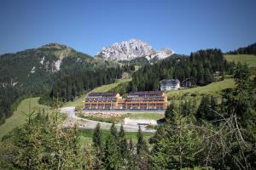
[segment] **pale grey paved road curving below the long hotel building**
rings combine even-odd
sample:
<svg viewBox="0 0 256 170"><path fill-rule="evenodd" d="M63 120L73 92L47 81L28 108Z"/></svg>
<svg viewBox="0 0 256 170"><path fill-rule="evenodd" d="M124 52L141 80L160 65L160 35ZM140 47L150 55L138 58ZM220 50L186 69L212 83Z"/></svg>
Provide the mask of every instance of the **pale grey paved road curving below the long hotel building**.
<svg viewBox="0 0 256 170"><path fill-rule="evenodd" d="M95 128L97 123L101 124L101 127L104 129L109 129L109 127L111 127L112 123L108 123L108 122L99 122L99 121L93 121L90 119L85 119L79 116L76 116L76 112L75 112L75 107L63 107L61 108L61 113L67 113L67 116L70 118L73 118L75 120L84 120L86 123L85 126L79 126L81 128ZM117 124L117 126L121 126L121 124ZM123 125L123 127L125 128L126 132L137 132L138 130L138 126L130 126L130 125ZM155 130L154 129L146 129L144 127L142 127L142 131L146 132L146 133L154 133Z"/></svg>

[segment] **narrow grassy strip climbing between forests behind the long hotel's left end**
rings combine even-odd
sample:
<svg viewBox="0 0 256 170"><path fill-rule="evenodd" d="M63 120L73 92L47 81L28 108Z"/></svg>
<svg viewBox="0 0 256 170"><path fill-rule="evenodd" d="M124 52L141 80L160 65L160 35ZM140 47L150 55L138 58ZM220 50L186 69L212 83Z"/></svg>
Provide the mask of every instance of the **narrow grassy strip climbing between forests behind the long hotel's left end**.
<svg viewBox="0 0 256 170"><path fill-rule="evenodd" d="M120 83L123 83L123 82L131 82L131 78L118 79L118 80L116 80L115 82L113 82L111 84L107 84L107 85L103 85L103 86L98 87L98 88L94 88L90 92L108 92L109 90L111 90L112 88L117 87ZM84 95L82 95L79 99L76 99L74 101L69 101L69 102L65 103L63 105L63 107L75 106L77 108L82 108L83 107L83 100L84 100L86 94L88 94L88 92L86 92Z"/></svg>

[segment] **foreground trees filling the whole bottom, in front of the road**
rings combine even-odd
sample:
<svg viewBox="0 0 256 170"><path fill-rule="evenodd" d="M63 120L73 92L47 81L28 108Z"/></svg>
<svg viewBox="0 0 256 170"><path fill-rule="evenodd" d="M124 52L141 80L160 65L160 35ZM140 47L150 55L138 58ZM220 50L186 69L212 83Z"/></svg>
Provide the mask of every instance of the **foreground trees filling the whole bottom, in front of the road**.
<svg viewBox="0 0 256 170"><path fill-rule="evenodd" d="M256 77L236 65L236 88L219 102L205 96L197 108L171 103L165 122L150 139L141 129L137 141L113 124L107 139L98 125L92 143L79 143L77 127L61 127L56 112L38 112L5 136L1 169L255 169Z"/></svg>

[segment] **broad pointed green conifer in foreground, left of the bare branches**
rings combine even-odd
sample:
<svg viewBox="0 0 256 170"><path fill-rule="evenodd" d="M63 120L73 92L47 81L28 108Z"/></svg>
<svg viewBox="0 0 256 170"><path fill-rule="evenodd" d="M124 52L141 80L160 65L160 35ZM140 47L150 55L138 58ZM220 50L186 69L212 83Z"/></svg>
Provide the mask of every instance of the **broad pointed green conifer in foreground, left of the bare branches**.
<svg viewBox="0 0 256 170"><path fill-rule="evenodd" d="M200 156L200 140L193 126L179 112L173 121L167 120L159 128L160 137L154 138L149 156L150 169L182 169L197 165Z"/></svg>

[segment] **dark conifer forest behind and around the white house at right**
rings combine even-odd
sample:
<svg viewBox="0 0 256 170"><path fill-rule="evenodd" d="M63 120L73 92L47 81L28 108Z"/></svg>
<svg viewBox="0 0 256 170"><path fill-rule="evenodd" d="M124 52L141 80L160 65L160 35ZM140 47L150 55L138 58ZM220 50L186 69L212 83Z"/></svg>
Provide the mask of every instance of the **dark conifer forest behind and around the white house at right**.
<svg viewBox="0 0 256 170"><path fill-rule="evenodd" d="M132 75L132 81L126 91L158 90L160 80L186 79L194 85L207 85L214 81L214 74L224 78L232 74L234 63L228 63L220 49L199 50L189 57L177 57L160 61L154 65L145 65Z"/></svg>

